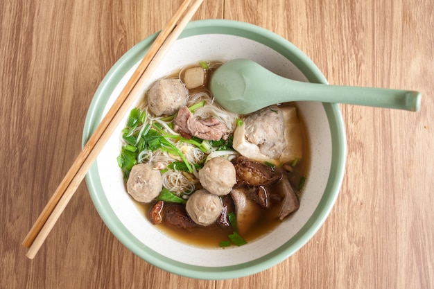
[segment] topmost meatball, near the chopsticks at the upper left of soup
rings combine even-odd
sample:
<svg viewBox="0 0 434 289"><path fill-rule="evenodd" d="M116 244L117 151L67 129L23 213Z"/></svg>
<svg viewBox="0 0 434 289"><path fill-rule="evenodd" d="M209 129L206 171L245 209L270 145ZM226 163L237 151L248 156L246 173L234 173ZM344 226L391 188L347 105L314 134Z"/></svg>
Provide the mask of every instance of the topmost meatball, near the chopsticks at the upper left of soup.
<svg viewBox="0 0 434 289"><path fill-rule="evenodd" d="M160 79L148 91L149 109L157 116L175 114L186 104L186 89L179 79Z"/></svg>

